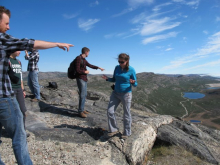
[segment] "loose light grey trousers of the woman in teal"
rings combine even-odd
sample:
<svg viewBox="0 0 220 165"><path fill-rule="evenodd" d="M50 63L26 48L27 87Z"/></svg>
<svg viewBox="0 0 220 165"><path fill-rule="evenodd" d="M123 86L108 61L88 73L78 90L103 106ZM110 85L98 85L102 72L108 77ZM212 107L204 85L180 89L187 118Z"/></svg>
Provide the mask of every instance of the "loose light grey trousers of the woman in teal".
<svg viewBox="0 0 220 165"><path fill-rule="evenodd" d="M124 115L123 115L123 121L124 121L124 132L123 135L130 136L131 135L131 99L132 99L132 93L118 93L113 91L110 96L110 101L108 104L108 126L109 126L109 132L116 132L118 131L116 117L115 117L115 111L120 103L123 105Z"/></svg>

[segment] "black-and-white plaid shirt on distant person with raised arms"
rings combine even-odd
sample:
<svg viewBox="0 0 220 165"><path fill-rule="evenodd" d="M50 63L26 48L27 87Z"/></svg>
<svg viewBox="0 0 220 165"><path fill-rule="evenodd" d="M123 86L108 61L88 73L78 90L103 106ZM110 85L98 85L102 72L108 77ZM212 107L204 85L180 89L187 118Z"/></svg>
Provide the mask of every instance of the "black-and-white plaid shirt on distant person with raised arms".
<svg viewBox="0 0 220 165"><path fill-rule="evenodd" d="M39 61L40 58L40 54L38 52L38 50L33 50L29 56L25 56L25 60L29 60L28 61L28 67L27 67L27 71L34 71L34 70L39 70L37 63Z"/></svg>

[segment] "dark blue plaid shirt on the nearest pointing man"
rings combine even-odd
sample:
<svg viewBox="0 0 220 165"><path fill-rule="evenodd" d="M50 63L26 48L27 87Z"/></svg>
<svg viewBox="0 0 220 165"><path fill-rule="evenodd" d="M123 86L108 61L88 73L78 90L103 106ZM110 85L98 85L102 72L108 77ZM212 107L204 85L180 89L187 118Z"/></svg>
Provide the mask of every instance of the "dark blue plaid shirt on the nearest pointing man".
<svg viewBox="0 0 220 165"><path fill-rule="evenodd" d="M0 98L14 95L8 76L10 55L15 51L31 51L33 47L33 39L17 39L6 33L0 33Z"/></svg>

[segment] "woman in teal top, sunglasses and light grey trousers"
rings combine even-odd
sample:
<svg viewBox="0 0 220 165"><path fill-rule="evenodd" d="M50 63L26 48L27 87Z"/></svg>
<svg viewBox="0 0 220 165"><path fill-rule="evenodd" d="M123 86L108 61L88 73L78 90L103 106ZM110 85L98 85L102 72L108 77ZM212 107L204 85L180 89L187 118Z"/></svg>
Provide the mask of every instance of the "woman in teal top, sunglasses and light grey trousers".
<svg viewBox="0 0 220 165"><path fill-rule="evenodd" d="M133 67L129 66L129 55L121 53L118 56L119 65L115 67L114 74L112 78L105 75L102 76L103 79L109 82L115 82L114 90L110 96L110 101L108 105L108 126L109 126L109 136L113 136L119 132L117 127L117 122L115 118L115 110L118 105L122 103L124 116L124 132L122 135L123 139L126 139L131 135L131 99L132 99L132 86L137 86L136 72Z"/></svg>

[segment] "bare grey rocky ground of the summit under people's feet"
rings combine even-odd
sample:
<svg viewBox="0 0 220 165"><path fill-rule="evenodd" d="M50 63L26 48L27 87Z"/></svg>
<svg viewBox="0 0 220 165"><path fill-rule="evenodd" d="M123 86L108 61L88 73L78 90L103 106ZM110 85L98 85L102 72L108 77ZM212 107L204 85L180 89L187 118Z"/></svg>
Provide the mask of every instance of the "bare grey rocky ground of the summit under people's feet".
<svg viewBox="0 0 220 165"><path fill-rule="evenodd" d="M58 86L57 90L42 88L42 101L38 103L30 101L30 91L26 86L26 127L30 133L27 141L31 159L36 165L160 164L149 157L158 140L182 146L201 158L200 164L220 162L219 131L132 107L132 135L123 140L120 138L123 113L119 107L116 115L120 133L109 138L106 135L108 96L88 91L86 110L90 114L82 119L77 114L77 88ZM16 164L7 133L3 132L1 140L2 160L7 165Z"/></svg>

